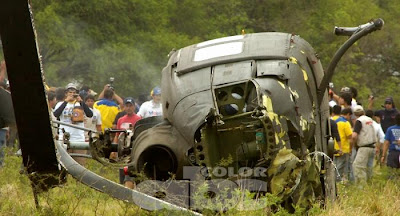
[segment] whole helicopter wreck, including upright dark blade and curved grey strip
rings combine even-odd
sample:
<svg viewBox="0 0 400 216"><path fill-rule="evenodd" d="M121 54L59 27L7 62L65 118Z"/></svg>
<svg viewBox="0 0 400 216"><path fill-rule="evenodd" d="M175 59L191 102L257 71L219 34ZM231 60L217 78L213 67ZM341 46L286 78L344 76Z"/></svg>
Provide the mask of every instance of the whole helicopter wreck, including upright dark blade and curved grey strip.
<svg viewBox="0 0 400 216"><path fill-rule="evenodd" d="M48 111L43 109L46 97L29 5L7 2L0 16L23 162L34 192L59 184L60 163L88 186L144 209L192 208L190 202L182 208L124 188L77 164L63 143L53 140ZM85 148L102 162L111 151L129 156L130 175L143 172L150 179L167 180L174 174L187 179L185 167L199 168L208 180L257 173L247 176L262 180L263 192L278 196L283 205L334 200L326 89L346 50L382 26L383 20L377 19L335 28L336 34L350 37L326 71L309 43L287 33L237 35L177 50L162 70L163 117L144 119L134 130L93 133ZM28 98L32 109L27 111L21 98ZM115 132L123 132L118 144L108 139Z"/></svg>

